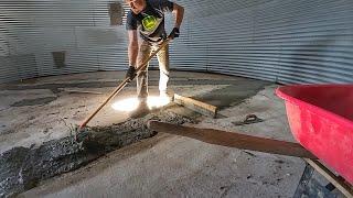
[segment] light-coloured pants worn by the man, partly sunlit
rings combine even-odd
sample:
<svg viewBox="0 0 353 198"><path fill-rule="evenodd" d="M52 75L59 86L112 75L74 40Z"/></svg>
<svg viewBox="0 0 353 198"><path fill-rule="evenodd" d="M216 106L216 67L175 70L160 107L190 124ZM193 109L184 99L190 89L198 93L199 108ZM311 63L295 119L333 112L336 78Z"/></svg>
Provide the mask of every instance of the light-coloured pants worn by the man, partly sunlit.
<svg viewBox="0 0 353 198"><path fill-rule="evenodd" d="M158 45L151 45L146 41L141 41L138 54L138 66L140 66L158 47ZM157 58L159 63L159 91L165 92L167 84L169 81L169 45L165 45L157 53ZM146 100L148 97L148 66L149 63L147 64L146 69L137 75L137 96L140 100Z"/></svg>

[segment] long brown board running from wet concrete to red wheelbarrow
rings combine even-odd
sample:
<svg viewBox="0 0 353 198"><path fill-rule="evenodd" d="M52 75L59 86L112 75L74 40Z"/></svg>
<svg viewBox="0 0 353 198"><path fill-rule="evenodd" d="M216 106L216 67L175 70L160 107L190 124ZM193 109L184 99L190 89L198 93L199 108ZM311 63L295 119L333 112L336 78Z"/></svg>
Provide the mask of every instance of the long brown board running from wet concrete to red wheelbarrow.
<svg viewBox="0 0 353 198"><path fill-rule="evenodd" d="M182 127L159 121L149 121L148 128L157 132L188 136L210 144L297 157L314 160L318 158L309 151L303 148L300 144L292 142L278 141L213 129Z"/></svg>

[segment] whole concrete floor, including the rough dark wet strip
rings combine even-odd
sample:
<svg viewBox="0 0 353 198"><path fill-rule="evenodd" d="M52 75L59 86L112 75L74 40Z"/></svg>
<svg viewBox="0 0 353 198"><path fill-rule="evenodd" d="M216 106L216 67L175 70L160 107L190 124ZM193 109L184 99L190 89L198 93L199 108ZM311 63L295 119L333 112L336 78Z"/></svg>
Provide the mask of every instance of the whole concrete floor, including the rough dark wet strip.
<svg viewBox="0 0 353 198"><path fill-rule="evenodd" d="M124 79L124 73L52 76L0 85L1 194L24 190L21 196L31 198L292 197L306 167L300 158L143 131L148 119L170 118L169 122L175 122L178 113L185 119L181 122L197 119L197 128L295 141L284 102L274 95L277 85L265 87L268 82L261 80L191 72L172 75L171 90L215 105L224 117L199 117L174 106L163 109L163 114L125 122L127 113L107 106L89 123L99 127L88 128L89 135L78 144L67 138L66 124L79 124ZM151 70L149 77L150 91L156 94L159 72ZM101 95L71 94L71 88ZM130 84L117 100L135 94L135 84ZM42 105L36 100L47 97L57 99ZM14 102L29 105L30 100L38 105L11 107ZM264 122L233 124L249 113Z"/></svg>

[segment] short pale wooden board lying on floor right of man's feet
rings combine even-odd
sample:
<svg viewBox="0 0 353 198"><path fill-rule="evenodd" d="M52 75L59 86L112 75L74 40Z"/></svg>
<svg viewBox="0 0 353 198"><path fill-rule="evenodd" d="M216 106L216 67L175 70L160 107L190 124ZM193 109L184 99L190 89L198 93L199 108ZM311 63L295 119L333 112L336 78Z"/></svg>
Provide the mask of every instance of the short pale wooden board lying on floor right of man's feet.
<svg viewBox="0 0 353 198"><path fill-rule="evenodd" d="M206 117L216 118L217 107L174 94L174 102Z"/></svg>

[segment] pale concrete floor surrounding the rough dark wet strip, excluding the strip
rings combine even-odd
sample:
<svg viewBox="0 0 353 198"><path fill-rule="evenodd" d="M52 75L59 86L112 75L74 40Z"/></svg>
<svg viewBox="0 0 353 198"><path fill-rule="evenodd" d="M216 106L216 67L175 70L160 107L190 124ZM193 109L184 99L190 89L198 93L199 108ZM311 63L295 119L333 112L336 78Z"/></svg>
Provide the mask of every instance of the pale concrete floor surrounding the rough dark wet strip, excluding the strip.
<svg viewBox="0 0 353 198"><path fill-rule="evenodd" d="M79 124L122 77L117 72L88 73L2 85L0 153L15 146L40 146L69 135L67 125ZM151 94L157 94L157 84L158 72L152 70ZM221 107L216 119L199 116L197 128L295 141L284 101L274 95L276 87L261 80L190 72L173 72L170 82L179 95ZM116 100L133 94L135 86L128 86ZM171 111L193 113L178 106ZM265 121L248 125L232 123L249 113ZM107 106L89 125L111 125L127 119L127 113ZM210 145L161 133L77 170L41 182L21 197L293 197L304 167L301 158Z"/></svg>

